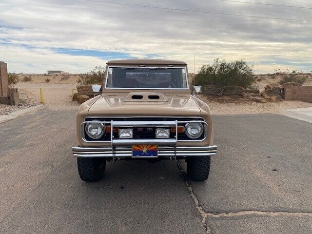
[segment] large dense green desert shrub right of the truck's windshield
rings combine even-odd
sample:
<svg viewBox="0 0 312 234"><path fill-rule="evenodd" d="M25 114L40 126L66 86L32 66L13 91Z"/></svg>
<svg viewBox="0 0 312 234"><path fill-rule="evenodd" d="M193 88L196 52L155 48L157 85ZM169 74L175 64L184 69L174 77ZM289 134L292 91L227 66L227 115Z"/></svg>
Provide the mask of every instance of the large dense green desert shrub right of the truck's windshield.
<svg viewBox="0 0 312 234"><path fill-rule="evenodd" d="M195 75L195 85L250 87L254 82L253 66L243 59L233 62L215 59L213 65L203 65Z"/></svg>

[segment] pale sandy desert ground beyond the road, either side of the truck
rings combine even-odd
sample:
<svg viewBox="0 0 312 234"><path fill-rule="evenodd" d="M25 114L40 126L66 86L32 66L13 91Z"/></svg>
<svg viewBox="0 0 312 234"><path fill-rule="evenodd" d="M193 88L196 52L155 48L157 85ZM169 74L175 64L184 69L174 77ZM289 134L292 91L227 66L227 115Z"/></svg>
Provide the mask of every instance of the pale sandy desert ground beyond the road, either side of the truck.
<svg viewBox="0 0 312 234"><path fill-rule="evenodd" d="M15 85L20 89L23 106L0 105L0 114L7 114L39 103L39 88L43 88L44 102L55 108L66 108L68 105L77 105L71 99L72 89L76 89L78 74L69 75L44 75L44 74L19 74L20 80L31 77L31 81L20 81ZM65 78L64 78L65 77ZM192 74L190 75L192 82ZM50 79L46 82L45 79ZM282 76L256 75L256 85L260 91L270 83L278 83ZM305 85L312 85L312 79ZM243 98L212 98L199 95L199 98L207 102L213 114L253 114L253 113L280 113L285 109L312 107L312 103L301 101L279 101L269 103L257 103L246 101Z"/></svg>

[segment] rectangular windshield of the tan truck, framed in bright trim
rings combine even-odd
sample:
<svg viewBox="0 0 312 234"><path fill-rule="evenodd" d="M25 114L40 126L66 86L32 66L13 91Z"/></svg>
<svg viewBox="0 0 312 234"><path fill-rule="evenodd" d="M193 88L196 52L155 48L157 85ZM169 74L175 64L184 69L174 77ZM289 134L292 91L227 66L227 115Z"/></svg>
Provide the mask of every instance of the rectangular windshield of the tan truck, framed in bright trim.
<svg viewBox="0 0 312 234"><path fill-rule="evenodd" d="M110 67L106 88L188 89L185 68Z"/></svg>

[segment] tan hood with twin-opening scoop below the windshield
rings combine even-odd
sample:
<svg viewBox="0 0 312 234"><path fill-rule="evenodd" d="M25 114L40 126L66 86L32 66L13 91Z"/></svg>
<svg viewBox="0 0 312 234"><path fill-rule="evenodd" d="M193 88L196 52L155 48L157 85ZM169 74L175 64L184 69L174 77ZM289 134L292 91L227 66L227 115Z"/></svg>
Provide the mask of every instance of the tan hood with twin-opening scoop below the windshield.
<svg viewBox="0 0 312 234"><path fill-rule="evenodd" d="M142 96L142 98L137 98ZM159 96L150 99L150 96ZM132 98L133 97L133 98ZM91 116L200 116L190 94L124 93L103 94L90 107Z"/></svg>

